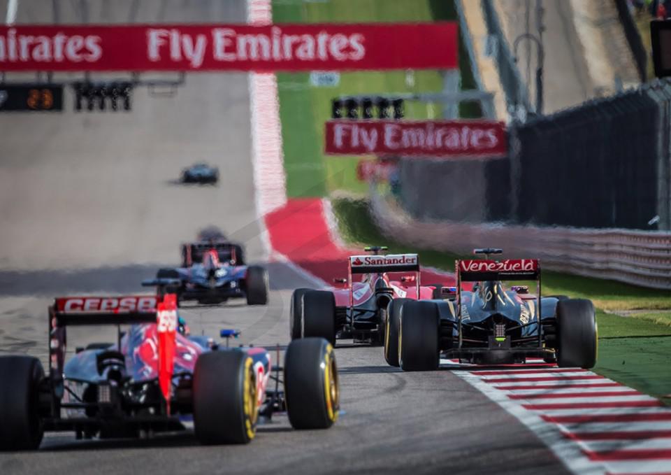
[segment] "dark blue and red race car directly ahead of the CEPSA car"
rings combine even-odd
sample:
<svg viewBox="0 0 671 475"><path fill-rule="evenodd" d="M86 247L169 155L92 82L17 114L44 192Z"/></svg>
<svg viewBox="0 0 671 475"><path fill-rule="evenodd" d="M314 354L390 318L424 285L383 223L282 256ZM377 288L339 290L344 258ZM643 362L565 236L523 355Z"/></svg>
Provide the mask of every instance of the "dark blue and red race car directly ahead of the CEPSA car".
<svg viewBox="0 0 671 475"><path fill-rule="evenodd" d="M142 285L156 286L159 295L175 293L178 304L221 304L228 299L245 298L249 305L268 304L268 271L238 262L240 246L228 242L190 243L182 248L182 265L159 269L156 278ZM196 261L199 259L200 262Z"/></svg>

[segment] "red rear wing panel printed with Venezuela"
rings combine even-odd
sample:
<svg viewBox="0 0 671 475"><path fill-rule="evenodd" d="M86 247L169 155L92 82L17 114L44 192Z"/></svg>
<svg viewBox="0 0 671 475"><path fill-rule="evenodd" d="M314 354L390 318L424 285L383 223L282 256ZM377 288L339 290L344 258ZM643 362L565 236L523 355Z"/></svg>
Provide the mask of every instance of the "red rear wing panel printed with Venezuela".
<svg viewBox="0 0 671 475"><path fill-rule="evenodd" d="M495 281L536 278L540 267L536 259L460 260L457 269L463 281Z"/></svg>

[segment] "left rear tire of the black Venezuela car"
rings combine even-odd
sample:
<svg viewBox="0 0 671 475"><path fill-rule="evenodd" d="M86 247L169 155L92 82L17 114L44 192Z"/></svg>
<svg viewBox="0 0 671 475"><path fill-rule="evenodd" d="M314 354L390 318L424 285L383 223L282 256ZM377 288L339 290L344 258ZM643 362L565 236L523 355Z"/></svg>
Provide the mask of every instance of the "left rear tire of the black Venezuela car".
<svg viewBox="0 0 671 475"><path fill-rule="evenodd" d="M398 364L403 371L438 369L439 318L435 302L408 302L403 306L398 332Z"/></svg>

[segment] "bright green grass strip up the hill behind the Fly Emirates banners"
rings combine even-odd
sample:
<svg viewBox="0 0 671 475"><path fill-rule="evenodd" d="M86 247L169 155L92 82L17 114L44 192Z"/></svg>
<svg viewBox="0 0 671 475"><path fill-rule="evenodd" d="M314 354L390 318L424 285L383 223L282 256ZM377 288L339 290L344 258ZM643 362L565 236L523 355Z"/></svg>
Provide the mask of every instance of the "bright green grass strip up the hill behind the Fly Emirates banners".
<svg viewBox="0 0 671 475"><path fill-rule="evenodd" d="M325 3L273 2L275 23L323 22L431 22L454 20L452 1L332 0ZM475 87L468 55L460 41L462 87ZM410 76L407 76L410 75ZM412 77L414 82L407 81ZM324 155L324 122L331 118L331 99L342 94L439 92L438 71L365 71L341 73L337 87L312 87L308 73L278 73L284 168L289 197L322 197L333 190L363 194L366 183L356 179L361 157ZM408 101L408 118L438 118L438 106ZM461 114L479 117L479 107L461 106Z"/></svg>

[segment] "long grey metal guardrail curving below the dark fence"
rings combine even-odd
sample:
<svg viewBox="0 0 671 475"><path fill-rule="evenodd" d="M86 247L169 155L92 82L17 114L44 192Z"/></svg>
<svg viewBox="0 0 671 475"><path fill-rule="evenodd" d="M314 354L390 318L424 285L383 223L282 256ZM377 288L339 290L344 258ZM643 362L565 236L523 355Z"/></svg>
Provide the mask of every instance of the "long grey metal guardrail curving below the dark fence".
<svg viewBox="0 0 671 475"><path fill-rule="evenodd" d="M538 258L545 269L671 290L671 232L420 221L374 185L370 206L384 234L412 246L463 254L496 246L506 257Z"/></svg>

